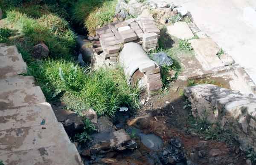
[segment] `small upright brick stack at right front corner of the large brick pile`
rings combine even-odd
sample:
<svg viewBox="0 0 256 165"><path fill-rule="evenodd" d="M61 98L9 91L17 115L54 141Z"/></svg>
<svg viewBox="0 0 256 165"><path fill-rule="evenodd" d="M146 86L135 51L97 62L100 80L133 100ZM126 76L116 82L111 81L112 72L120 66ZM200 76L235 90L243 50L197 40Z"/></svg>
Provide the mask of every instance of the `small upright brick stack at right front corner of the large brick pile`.
<svg viewBox="0 0 256 165"><path fill-rule="evenodd" d="M157 39L157 33L146 33L143 34L143 48L145 49L145 51L150 51L150 50L154 50L157 48L158 44L158 39Z"/></svg>

